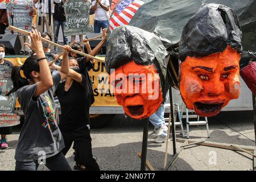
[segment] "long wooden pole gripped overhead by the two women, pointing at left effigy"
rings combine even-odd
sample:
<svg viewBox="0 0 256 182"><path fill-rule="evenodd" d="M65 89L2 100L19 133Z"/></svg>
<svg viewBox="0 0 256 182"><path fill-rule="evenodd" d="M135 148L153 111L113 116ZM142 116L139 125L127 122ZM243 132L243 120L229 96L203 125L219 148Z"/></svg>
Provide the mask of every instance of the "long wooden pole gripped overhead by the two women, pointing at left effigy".
<svg viewBox="0 0 256 182"><path fill-rule="evenodd" d="M24 31L24 30L22 30L22 29L20 29L20 28L16 28L16 27L13 27L13 26L9 26L9 29L10 29L10 30L13 30L13 31L16 31L16 32L20 32L20 33L22 33L22 34L29 35L29 32L28 32L28 31ZM61 48L61 49L65 49L64 46L61 46L61 45L56 44L56 43L54 43L54 42L51 42L50 40L47 40L47 39L44 39L44 38L41 38L41 39L44 40L44 42L48 42L48 43L51 44L52 46L59 47L59 48ZM94 60L97 60L97 61L100 61L100 62L102 62L102 63L105 62L104 60L98 59L97 57L88 55L88 54L86 54L86 53L84 53L84 52L76 51L75 49L71 49L70 51L71 51L71 52L74 52L74 53L78 53L79 55L82 55L82 56L90 57L90 58L92 58L92 59L94 59Z"/></svg>

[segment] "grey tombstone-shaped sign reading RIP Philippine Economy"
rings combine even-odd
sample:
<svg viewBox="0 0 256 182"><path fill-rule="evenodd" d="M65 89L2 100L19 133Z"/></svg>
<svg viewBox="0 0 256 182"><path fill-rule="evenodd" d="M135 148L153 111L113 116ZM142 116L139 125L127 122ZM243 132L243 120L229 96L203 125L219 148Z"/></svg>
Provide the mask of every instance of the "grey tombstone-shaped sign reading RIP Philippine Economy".
<svg viewBox="0 0 256 182"><path fill-rule="evenodd" d="M69 0L64 3L67 26L65 35L83 35L92 33L93 27L89 24L90 2L86 0Z"/></svg>

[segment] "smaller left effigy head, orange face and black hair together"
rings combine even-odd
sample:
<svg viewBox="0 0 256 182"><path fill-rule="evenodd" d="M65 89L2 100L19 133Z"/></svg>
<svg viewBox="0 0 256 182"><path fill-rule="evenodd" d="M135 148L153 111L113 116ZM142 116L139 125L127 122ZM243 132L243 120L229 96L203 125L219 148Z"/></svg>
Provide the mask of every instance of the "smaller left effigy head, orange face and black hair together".
<svg viewBox="0 0 256 182"><path fill-rule="evenodd" d="M131 118L150 117L162 104L167 55L160 38L141 28L117 27L109 36L106 71L118 104Z"/></svg>

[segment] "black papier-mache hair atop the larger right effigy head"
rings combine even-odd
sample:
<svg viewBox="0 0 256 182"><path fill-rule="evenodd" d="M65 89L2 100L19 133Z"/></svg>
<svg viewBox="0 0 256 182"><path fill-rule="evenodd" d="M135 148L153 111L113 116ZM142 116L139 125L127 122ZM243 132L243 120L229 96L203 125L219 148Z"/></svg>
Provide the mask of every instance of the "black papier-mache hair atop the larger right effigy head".
<svg viewBox="0 0 256 182"><path fill-rule="evenodd" d="M223 52L229 45L242 52L242 31L234 10L224 5L204 4L188 20L179 43L179 59Z"/></svg>

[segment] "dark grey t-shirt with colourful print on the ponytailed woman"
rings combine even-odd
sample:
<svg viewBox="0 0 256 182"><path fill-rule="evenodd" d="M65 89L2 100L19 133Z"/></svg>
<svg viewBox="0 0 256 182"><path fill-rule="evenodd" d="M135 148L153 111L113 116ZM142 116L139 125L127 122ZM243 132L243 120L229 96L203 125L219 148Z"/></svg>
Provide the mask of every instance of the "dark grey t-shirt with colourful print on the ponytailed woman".
<svg viewBox="0 0 256 182"><path fill-rule="evenodd" d="M33 97L38 82L23 86L17 91L18 101L25 115L14 156L20 162L38 160L42 155L49 158L64 148L53 101L53 93L59 85L60 74L56 73L52 79L52 88L38 97Z"/></svg>

